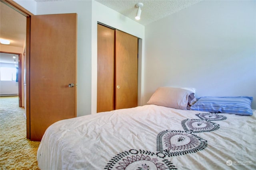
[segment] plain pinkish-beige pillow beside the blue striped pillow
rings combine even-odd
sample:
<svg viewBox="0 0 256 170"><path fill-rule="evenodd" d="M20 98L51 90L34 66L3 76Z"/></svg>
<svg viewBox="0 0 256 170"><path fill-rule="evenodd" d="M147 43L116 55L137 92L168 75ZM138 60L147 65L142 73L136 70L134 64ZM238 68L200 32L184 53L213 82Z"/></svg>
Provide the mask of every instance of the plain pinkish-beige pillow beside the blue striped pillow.
<svg viewBox="0 0 256 170"><path fill-rule="evenodd" d="M186 110L190 109L191 102L194 100L196 100L194 93L189 90L173 87L160 87L154 92L147 104Z"/></svg>

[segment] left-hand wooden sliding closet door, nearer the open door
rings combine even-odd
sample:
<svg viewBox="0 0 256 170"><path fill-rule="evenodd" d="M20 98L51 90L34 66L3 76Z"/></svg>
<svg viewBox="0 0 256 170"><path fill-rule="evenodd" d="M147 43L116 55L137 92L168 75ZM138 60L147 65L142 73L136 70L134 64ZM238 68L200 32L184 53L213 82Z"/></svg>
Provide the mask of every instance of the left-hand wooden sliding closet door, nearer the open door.
<svg viewBox="0 0 256 170"><path fill-rule="evenodd" d="M114 33L98 24L97 112L114 110Z"/></svg>

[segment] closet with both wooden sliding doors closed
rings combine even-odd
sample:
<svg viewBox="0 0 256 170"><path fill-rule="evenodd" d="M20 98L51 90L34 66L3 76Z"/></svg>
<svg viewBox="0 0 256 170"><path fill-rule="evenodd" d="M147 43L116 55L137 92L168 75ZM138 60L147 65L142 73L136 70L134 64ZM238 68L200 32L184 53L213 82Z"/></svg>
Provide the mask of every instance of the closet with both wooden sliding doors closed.
<svg viewBox="0 0 256 170"><path fill-rule="evenodd" d="M138 38L98 24L97 112L138 106Z"/></svg>

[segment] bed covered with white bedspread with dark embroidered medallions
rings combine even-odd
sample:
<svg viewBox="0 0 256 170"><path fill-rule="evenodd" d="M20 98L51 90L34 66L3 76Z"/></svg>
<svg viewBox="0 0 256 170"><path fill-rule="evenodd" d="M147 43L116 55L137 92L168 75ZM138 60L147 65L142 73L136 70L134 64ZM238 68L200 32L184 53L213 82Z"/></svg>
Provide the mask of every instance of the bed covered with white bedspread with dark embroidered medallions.
<svg viewBox="0 0 256 170"><path fill-rule="evenodd" d="M182 96L186 98L185 104L174 104L184 105L182 108L160 106L166 101L165 104L151 104L159 97L154 93L145 106L52 124L38 148L39 168L256 169L256 111L245 116L191 110L193 104L188 101L192 93L183 92L187 93ZM170 94L177 98L174 93L167 93ZM161 99L166 100L163 96Z"/></svg>

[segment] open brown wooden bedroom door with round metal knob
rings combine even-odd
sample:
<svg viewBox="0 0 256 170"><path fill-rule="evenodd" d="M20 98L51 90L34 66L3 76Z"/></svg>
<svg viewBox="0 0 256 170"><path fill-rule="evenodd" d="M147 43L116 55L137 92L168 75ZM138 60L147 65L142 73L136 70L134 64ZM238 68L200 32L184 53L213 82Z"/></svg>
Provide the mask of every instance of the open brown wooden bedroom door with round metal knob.
<svg viewBox="0 0 256 170"><path fill-rule="evenodd" d="M31 16L28 118L32 141L40 141L52 123L76 117L76 35L77 14Z"/></svg>

